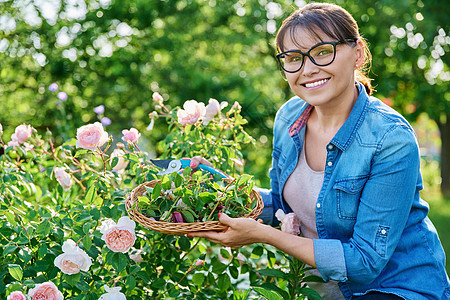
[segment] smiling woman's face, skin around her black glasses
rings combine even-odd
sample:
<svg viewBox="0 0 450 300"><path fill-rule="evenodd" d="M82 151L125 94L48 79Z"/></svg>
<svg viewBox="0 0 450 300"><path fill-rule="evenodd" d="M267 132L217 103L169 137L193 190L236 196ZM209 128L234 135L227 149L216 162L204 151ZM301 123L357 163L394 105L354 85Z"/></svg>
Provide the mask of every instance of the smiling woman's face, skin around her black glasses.
<svg viewBox="0 0 450 300"><path fill-rule="evenodd" d="M306 53L319 43L336 41L325 34L319 34L321 38L319 40L303 28L297 28L294 34L298 43L292 40L288 31L284 38L284 51L300 50ZM305 57L303 66L298 72L285 72L292 91L311 105L332 108L354 100L355 70L364 60L363 48L357 42L356 45L339 44L335 49L336 57L328 66L317 66Z"/></svg>

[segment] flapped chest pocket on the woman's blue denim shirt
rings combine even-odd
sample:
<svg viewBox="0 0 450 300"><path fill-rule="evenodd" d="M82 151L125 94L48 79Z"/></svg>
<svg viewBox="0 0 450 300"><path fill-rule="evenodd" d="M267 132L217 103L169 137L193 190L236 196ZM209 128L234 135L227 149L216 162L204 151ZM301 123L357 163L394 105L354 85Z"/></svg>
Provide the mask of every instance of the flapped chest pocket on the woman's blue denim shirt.
<svg viewBox="0 0 450 300"><path fill-rule="evenodd" d="M339 179L333 189L336 191L337 213L344 220L355 220L358 213L361 191L368 176Z"/></svg>

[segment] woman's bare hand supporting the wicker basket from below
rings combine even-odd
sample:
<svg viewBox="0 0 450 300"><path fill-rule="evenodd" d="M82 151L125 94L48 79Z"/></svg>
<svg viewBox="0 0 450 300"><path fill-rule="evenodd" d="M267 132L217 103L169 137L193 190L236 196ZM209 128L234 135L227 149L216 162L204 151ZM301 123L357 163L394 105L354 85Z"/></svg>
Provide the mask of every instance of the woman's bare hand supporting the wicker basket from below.
<svg viewBox="0 0 450 300"><path fill-rule="evenodd" d="M203 237L213 243L233 249L253 243L264 242L262 237L264 236L267 225L263 225L256 220L250 218L230 218L224 213L219 213L219 222L227 225L228 229L222 232L198 231L188 236Z"/></svg>

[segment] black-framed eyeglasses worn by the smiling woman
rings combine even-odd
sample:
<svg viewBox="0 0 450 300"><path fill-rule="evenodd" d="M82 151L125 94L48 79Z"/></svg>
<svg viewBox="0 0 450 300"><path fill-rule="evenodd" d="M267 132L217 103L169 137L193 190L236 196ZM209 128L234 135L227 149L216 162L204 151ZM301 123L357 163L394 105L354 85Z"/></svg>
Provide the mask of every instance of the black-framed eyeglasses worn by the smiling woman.
<svg viewBox="0 0 450 300"><path fill-rule="evenodd" d="M336 58L336 45L356 42L356 39L345 39L337 42L324 42L313 46L308 52L290 50L277 54L281 68L288 73L298 72L305 63L305 56L317 66L328 66Z"/></svg>

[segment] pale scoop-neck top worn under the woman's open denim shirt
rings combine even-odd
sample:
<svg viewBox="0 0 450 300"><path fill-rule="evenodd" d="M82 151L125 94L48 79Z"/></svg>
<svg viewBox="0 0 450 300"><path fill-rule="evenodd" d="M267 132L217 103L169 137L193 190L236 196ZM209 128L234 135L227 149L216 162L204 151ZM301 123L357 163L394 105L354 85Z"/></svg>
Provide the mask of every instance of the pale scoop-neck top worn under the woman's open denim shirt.
<svg viewBox="0 0 450 300"><path fill-rule="evenodd" d="M319 237L316 229L315 208L323 184L324 171L314 171L308 166L304 147L303 144L297 166L286 181L283 197L300 220L301 235L317 239ZM311 273L320 276L317 270L312 270ZM345 299L334 280L324 284L311 282L308 285L324 300Z"/></svg>

